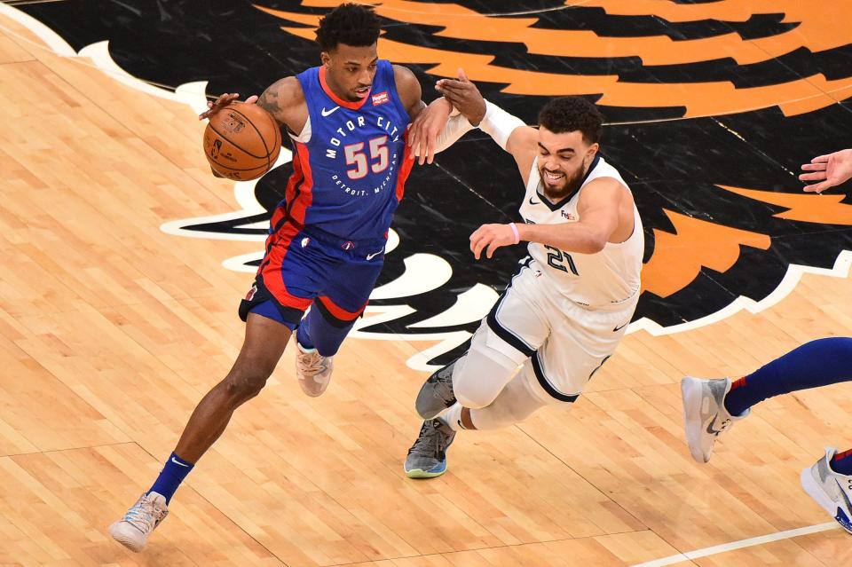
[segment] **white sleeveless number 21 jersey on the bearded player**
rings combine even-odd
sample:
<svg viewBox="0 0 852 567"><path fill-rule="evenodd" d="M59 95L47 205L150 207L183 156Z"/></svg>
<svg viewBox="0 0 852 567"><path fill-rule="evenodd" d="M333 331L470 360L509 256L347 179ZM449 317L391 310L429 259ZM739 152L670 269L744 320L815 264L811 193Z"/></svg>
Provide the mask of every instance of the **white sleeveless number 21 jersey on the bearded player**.
<svg viewBox="0 0 852 567"><path fill-rule="evenodd" d="M521 217L527 224L575 223L580 220L577 203L580 194L598 177L612 177L630 191L619 172L604 158L596 156L583 179L580 189L563 201L550 203L543 196L538 159L533 161L526 184L526 194L521 205ZM639 211L633 206L634 229L623 242L607 242L596 254L565 252L530 242L530 256L540 265L540 270L554 287L575 303L583 306L607 308L627 303L639 293L639 272L642 270L644 235Z"/></svg>

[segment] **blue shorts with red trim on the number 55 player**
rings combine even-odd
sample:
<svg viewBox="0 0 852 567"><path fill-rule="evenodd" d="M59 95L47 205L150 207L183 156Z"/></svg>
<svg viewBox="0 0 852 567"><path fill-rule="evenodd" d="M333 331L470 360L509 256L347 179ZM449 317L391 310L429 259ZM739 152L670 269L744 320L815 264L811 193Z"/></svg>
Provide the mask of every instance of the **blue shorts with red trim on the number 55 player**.
<svg viewBox="0 0 852 567"><path fill-rule="evenodd" d="M266 240L240 318L256 312L295 329L313 304L333 325L349 326L367 307L382 272L385 244L386 239L343 240L285 221Z"/></svg>

